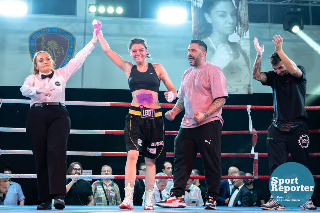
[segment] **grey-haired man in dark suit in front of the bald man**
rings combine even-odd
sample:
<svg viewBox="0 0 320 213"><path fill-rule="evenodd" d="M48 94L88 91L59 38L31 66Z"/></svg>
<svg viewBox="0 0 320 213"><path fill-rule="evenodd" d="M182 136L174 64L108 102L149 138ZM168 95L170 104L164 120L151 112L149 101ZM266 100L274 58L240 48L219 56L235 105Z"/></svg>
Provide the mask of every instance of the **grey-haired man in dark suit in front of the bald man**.
<svg viewBox="0 0 320 213"><path fill-rule="evenodd" d="M237 171L234 176L245 176L243 171ZM246 179L234 179L235 186L229 198L228 206L251 206L252 197L250 190L245 186Z"/></svg>

